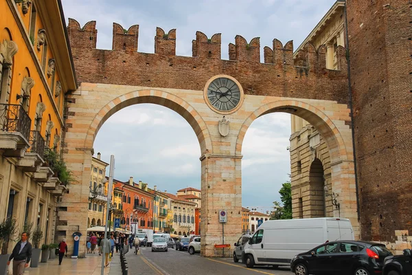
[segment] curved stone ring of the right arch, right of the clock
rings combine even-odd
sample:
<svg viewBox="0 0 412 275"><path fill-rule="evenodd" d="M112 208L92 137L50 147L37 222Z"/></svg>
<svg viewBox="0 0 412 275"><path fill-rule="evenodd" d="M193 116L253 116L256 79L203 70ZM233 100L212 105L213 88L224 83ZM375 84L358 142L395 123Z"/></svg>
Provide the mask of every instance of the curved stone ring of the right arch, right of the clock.
<svg viewBox="0 0 412 275"><path fill-rule="evenodd" d="M328 144L331 162L353 159L353 155L347 152L345 142L343 141L343 137L341 136L338 127L332 122L328 115L325 115L325 113L317 107L299 100L278 100L264 104L249 115L249 118L244 121L238 135L236 155L242 154L244 135L252 122L262 115L275 112L297 115L312 124L325 139L326 144Z"/></svg>

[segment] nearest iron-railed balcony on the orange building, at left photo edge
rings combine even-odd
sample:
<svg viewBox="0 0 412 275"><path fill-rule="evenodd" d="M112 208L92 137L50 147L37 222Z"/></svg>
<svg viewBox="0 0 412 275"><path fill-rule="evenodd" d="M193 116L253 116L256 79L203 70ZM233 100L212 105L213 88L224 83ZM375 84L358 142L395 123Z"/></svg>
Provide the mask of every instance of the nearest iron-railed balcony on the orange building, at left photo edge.
<svg viewBox="0 0 412 275"><path fill-rule="evenodd" d="M30 146L32 120L19 104L0 104L0 148L5 157L23 157Z"/></svg>

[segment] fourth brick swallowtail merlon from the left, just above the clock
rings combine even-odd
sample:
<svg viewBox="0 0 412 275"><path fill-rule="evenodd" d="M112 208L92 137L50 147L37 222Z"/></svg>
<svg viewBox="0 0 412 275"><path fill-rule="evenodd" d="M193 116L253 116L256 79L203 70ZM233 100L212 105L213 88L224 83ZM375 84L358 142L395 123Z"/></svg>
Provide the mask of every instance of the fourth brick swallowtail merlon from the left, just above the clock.
<svg viewBox="0 0 412 275"><path fill-rule="evenodd" d="M196 32L196 40L192 43L193 57L200 58L221 58L222 34L214 34L211 39L207 39L203 32Z"/></svg>

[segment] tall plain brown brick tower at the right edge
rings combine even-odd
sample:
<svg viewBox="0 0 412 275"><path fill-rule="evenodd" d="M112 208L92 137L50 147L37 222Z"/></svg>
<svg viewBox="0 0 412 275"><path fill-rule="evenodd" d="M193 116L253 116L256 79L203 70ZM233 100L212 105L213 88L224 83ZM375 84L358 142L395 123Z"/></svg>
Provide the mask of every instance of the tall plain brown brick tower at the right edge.
<svg viewBox="0 0 412 275"><path fill-rule="evenodd" d="M347 0L361 237L412 230L412 2Z"/></svg>

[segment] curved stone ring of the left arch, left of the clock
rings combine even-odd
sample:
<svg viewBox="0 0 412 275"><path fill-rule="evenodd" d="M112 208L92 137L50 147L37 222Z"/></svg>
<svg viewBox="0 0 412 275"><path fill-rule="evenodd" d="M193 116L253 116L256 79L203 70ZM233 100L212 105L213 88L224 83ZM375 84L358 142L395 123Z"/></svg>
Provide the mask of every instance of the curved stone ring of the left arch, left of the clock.
<svg viewBox="0 0 412 275"><path fill-rule="evenodd" d="M111 115L121 109L140 103L158 104L179 113L179 115L185 118L190 126L192 126L192 129L196 133L196 137L201 146L201 155L207 151L211 152L213 150L209 130L207 129L207 125L203 121L203 118L201 118L201 115L199 115L199 113L182 98L170 94L167 91L152 89L130 91L128 94L118 96L111 100L111 102L108 102L102 109L100 109L95 115L93 122L91 122L91 126L89 127L89 131L87 131L84 140L84 147L93 147L93 142L100 127L111 117Z"/></svg>

